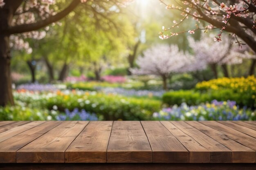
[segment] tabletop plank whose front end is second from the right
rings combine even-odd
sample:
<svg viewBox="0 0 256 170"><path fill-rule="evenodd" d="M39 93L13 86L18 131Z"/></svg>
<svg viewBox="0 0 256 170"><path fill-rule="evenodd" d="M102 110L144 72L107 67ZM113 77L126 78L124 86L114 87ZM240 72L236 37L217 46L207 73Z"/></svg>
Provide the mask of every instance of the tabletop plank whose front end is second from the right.
<svg viewBox="0 0 256 170"><path fill-rule="evenodd" d="M186 124L184 121L171 121L171 123L210 151L210 163L232 162L232 152L227 147L189 124Z"/></svg>

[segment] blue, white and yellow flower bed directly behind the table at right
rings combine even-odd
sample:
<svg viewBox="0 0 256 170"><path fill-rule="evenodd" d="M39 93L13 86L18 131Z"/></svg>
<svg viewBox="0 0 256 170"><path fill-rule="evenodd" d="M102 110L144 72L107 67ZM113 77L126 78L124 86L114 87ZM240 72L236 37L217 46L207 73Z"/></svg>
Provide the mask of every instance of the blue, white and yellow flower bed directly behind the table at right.
<svg viewBox="0 0 256 170"><path fill-rule="evenodd" d="M182 103L172 108L164 108L153 113L157 120L256 120L256 114L246 107L239 108L234 101L218 102L213 100L211 104L188 106Z"/></svg>

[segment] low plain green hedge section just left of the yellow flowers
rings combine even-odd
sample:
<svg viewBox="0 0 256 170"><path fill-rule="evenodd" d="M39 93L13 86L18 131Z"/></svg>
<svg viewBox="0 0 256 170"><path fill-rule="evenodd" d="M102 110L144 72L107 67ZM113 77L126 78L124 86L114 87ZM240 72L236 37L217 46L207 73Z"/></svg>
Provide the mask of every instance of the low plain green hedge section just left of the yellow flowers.
<svg viewBox="0 0 256 170"><path fill-rule="evenodd" d="M162 99L163 102L168 105L180 105L183 102L186 102L189 105L197 105L200 104L200 102L202 102L202 99L200 99L200 93L192 90L170 91L164 93Z"/></svg>

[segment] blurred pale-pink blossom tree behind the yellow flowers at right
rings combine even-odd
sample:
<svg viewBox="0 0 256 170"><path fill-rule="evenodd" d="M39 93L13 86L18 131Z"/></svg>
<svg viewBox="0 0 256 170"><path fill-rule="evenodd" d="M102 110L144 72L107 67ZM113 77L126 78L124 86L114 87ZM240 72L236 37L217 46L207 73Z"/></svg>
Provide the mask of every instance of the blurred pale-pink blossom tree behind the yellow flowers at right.
<svg viewBox="0 0 256 170"><path fill-rule="evenodd" d="M236 44L233 44L233 39L223 37L223 43L218 43L212 40L213 35L203 34L199 41L195 41L189 37L189 46L195 53L195 59L191 62L193 69L201 69L202 66L208 65L216 78L218 78L217 66L220 65L224 75L229 77L227 65L240 64L243 59L256 58L255 55L249 53L249 47L245 45L242 49ZM205 64L203 64L205 63Z"/></svg>

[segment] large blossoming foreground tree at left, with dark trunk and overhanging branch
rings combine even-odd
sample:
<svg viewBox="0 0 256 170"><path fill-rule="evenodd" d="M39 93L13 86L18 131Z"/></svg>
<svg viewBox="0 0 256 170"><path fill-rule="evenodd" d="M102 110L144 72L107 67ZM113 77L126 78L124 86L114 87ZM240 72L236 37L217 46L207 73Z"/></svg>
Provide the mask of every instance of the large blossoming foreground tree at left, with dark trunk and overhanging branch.
<svg viewBox="0 0 256 170"><path fill-rule="evenodd" d="M31 53L32 49L25 39L44 38L45 31L49 29L47 26L58 23L81 2L86 2L84 7L94 15L107 12L109 8L106 9L106 4L118 8L125 3L121 0L0 0L0 106L14 104L10 47L23 48Z"/></svg>

